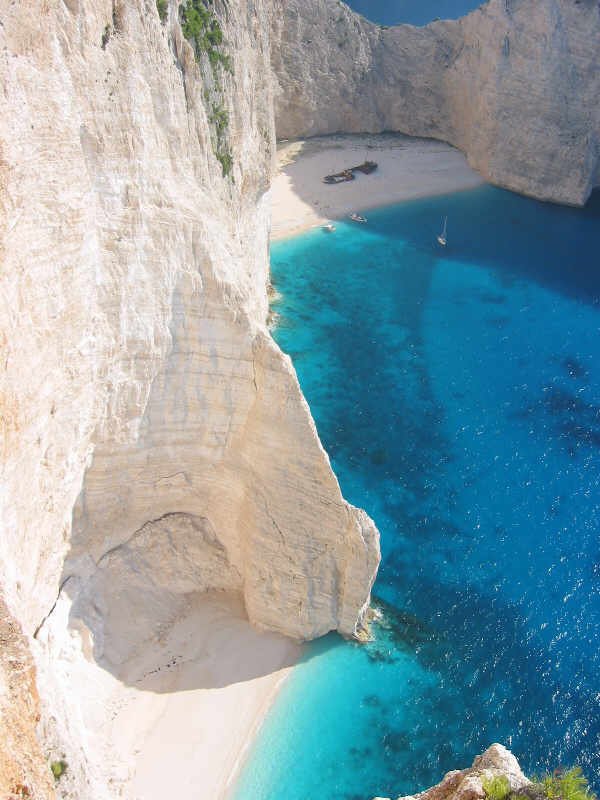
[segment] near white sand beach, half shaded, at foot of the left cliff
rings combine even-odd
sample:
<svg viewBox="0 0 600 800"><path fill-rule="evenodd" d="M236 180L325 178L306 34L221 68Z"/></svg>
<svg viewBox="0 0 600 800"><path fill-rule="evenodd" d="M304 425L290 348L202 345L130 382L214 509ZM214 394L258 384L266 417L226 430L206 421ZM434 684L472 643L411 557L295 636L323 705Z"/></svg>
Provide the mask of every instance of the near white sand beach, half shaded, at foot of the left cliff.
<svg viewBox="0 0 600 800"><path fill-rule="evenodd" d="M298 647L252 628L241 604L205 596L171 629L163 656L116 725L138 750L130 796L221 800ZM141 674L157 668L145 666Z"/></svg>

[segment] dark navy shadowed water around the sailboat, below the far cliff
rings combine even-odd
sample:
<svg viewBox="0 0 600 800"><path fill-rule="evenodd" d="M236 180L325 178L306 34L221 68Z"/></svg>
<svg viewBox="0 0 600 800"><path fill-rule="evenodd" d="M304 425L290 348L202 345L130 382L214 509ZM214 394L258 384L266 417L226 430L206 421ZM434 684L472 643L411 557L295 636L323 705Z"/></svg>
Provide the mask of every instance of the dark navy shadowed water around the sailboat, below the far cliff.
<svg viewBox="0 0 600 800"><path fill-rule="evenodd" d="M448 245L436 245L448 215ZM489 266L496 277L525 279L566 296L600 303L600 190L584 208L568 208L484 186L372 212L371 230L437 257ZM490 295L490 303L502 303Z"/></svg>

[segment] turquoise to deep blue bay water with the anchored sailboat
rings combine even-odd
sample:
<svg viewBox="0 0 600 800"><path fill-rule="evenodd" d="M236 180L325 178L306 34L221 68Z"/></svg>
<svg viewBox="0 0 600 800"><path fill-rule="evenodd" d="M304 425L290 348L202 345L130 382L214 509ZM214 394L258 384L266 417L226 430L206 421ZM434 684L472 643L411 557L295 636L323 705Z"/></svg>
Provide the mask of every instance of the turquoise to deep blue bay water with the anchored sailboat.
<svg viewBox="0 0 600 800"><path fill-rule="evenodd" d="M235 800L396 797L494 741L600 789L600 194L368 216L272 271L276 338L381 531L383 623L307 646Z"/></svg>

